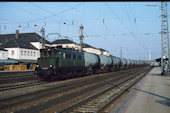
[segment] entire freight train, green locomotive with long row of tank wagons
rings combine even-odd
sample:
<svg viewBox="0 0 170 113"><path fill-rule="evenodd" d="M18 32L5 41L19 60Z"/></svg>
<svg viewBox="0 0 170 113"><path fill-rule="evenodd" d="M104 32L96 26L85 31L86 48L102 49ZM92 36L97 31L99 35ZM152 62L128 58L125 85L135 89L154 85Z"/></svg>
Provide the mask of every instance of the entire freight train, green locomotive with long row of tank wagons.
<svg viewBox="0 0 170 113"><path fill-rule="evenodd" d="M140 60L55 47L41 49L37 63L35 72L44 80L69 79L148 65Z"/></svg>

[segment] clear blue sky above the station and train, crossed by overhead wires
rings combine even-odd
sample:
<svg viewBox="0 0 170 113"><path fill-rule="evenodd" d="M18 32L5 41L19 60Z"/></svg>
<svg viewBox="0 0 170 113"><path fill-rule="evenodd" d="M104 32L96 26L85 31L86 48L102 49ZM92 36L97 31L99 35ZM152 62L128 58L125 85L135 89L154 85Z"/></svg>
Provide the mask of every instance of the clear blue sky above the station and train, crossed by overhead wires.
<svg viewBox="0 0 170 113"><path fill-rule="evenodd" d="M41 35L44 27L45 36L62 36L49 35L48 41L68 37L80 43L82 24L84 43L114 56L122 48L127 59L148 59L149 50L152 59L161 57L161 2L0 2L0 15L0 34Z"/></svg>

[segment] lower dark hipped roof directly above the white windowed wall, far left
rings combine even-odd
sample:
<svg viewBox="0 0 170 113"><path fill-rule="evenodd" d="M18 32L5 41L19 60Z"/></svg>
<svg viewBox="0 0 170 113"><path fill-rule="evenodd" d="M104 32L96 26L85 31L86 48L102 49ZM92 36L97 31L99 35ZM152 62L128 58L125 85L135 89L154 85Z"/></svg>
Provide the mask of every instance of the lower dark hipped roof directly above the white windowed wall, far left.
<svg viewBox="0 0 170 113"><path fill-rule="evenodd" d="M5 42L2 45L0 45L0 48L17 48L17 47L38 50L36 47L34 47L29 42L21 40L21 39L15 39L15 38L12 38L8 42Z"/></svg>

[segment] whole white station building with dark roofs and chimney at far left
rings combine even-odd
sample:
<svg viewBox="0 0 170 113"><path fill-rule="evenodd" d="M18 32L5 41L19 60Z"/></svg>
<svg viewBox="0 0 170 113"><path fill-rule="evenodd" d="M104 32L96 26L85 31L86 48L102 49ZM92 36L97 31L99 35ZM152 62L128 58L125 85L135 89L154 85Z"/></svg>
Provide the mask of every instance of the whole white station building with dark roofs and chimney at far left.
<svg viewBox="0 0 170 113"><path fill-rule="evenodd" d="M36 61L40 57L42 37L37 33L19 33L0 35L0 47L8 51L9 59ZM51 43L45 40L45 46Z"/></svg>

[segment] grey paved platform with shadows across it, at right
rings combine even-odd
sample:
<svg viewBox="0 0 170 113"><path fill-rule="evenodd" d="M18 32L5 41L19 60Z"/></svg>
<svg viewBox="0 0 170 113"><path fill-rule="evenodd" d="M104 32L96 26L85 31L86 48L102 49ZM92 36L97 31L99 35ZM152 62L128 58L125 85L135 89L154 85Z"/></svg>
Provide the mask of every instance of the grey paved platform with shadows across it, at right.
<svg viewBox="0 0 170 113"><path fill-rule="evenodd" d="M109 113L169 113L170 76L154 67Z"/></svg>

